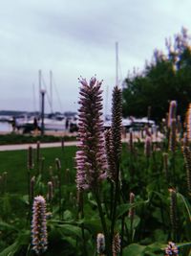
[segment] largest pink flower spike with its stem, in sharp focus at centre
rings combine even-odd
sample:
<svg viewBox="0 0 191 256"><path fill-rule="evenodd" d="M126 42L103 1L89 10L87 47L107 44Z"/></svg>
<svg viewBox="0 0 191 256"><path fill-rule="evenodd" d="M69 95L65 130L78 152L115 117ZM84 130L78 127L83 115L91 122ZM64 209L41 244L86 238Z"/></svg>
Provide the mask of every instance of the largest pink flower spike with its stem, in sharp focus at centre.
<svg viewBox="0 0 191 256"><path fill-rule="evenodd" d="M107 158L102 120L102 81L93 77L89 82L80 78L78 104L78 151L76 151L76 185L80 192L91 190L105 236L106 251L111 255L108 229L100 200L100 182L106 178Z"/></svg>

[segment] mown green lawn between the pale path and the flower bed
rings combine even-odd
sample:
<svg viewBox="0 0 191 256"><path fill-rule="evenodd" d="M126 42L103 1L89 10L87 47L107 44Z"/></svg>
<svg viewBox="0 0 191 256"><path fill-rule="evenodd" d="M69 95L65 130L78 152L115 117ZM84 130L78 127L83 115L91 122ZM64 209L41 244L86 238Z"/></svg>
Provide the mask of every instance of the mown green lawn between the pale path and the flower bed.
<svg viewBox="0 0 191 256"><path fill-rule="evenodd" d="M62 177L66 169L70 169L74 178L74 154L76 147L65 147L64 151L61 148L40 149L40 157L44 157L44 167L42 175L45 180L49 181L50 166L55 172L55 158L59 158L62 167ZM35 175L36 170L36 150L33 149L34 169L31 176ZM7 177L7 192L13 194L27 194L28 182L28 151L1 151L0 152L0 175L8 172Z"/></svg>

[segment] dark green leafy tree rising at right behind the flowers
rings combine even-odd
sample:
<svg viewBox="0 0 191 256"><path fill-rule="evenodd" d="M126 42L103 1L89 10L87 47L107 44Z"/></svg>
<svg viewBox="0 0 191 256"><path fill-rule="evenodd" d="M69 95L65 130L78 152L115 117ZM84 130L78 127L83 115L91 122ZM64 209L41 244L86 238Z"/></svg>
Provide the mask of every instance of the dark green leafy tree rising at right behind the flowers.
<svg viewBox="0 0 191 256"><path fill-rule="evenodd" d="M155 50L141 72L133 71L123 84L123 115L142 117L151 106L151 118L161 120L169 102L178 102L178 114L185 114L191 102L191 47L185 29L166 39L167 53Z"/></svg>

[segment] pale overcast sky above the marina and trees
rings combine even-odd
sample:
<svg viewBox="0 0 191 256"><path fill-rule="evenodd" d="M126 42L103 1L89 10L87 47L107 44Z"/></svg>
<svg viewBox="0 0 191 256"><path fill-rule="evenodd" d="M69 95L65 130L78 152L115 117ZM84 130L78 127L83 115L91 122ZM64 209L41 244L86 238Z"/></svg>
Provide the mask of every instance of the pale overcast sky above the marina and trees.
<svg viewBox="0 0 191 256"><path fill-rule="evenodd" d="M165 49L165 37L182 26L191 33L190 13L190 0L0 1L0 109L38 109L39 69L49 95L53 70L53 110L77 109L80 75L103 80L106 105L116 83L116 41L122 81L154 49Z"/></svg>

